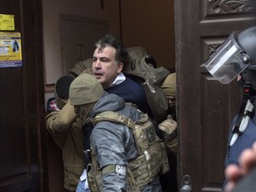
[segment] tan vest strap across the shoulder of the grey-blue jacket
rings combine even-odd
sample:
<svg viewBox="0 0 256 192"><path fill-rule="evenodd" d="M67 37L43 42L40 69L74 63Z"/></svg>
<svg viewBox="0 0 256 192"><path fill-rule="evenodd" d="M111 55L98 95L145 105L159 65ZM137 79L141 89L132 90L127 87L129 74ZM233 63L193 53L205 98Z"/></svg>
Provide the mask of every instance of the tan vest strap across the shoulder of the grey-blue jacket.
<svg viewBox="0 0 256 192"><path fill-rule="evenodd" d="M132 121L131 118L128 118L114 111L104 111L92 118L91 120L93 125L98 124L101 121L110 121L116 124L124 124L131 129L134 129L135 127L135 123Z"/></svg>

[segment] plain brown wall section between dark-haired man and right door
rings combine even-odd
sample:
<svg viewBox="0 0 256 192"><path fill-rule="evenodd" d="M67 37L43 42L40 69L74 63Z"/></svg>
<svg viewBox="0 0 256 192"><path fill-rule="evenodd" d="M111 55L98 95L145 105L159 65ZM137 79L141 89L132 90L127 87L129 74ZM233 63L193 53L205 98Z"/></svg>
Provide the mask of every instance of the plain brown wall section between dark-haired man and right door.
<svg viewBox="0 0 256 192"><path fill-rule="evenodd" d="M124 44L142 45L157 66L175 68L174 1L122 1L121 12Z"/></svg>

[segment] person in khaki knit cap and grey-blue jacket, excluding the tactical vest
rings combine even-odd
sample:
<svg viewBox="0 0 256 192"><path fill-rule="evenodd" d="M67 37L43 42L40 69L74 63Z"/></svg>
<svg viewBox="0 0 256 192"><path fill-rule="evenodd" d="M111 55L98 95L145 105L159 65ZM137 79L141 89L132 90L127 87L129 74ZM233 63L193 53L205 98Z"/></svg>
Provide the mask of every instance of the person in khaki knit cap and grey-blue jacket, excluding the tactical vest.
<svg viewBox="0 0 256 192"><path fill-rule="evenodd" d="M133 121L139 120L141 116L137 108L125 105L121 97L105 92L100 82L89 74L82 74L72 82L69 100L76 114L86 124L85 127L90 126L93 117L104 111L118 112ZM103 172L102 191L128 191L127 166L139 156L132 131L124 124L103 121L92 129L90 140L92 151ZM109 171L110 166L116 169ZM140 188L140 191L162 191L158 176Z"/></svg>

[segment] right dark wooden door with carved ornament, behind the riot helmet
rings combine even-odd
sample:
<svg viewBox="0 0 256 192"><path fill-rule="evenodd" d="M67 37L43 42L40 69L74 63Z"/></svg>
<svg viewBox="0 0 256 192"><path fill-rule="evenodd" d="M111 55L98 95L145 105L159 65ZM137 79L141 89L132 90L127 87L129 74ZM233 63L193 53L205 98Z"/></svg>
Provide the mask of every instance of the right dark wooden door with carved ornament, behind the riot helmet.
<svg viewBox="0 0 256 192"><path fill-rule="evenodd" d="M253 9L249 0L175 1L180 187L188 175L193 191L221 190L229 123L242 93L236 82L212 78L204 61L232 31L253 25Z"/></svg>

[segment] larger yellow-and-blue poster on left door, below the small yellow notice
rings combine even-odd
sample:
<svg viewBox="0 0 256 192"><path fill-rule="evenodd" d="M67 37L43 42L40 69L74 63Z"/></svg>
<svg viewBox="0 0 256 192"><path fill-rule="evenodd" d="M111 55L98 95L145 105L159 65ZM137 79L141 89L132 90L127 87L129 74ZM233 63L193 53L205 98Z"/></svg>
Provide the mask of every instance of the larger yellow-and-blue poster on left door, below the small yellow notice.
<svg viewBox="0 0 256 192"><path fill-rule="evenodd" d="M22 67L19 32L0 32L0 68Z"/></svg>

